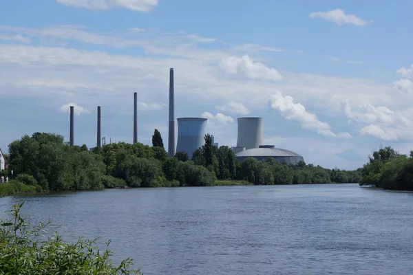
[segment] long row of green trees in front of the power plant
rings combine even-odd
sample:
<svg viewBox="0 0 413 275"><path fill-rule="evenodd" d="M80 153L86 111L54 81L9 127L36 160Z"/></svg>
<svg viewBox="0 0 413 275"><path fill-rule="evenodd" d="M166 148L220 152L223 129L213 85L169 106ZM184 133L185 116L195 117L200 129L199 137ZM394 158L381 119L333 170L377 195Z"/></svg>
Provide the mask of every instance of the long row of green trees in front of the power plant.
<svg viewBox="0 0 413 275"><path fill-rule="evenodd" d="M326 184L358 182L359 170L325 169L300 162L279 164L268 158L239 162L228 146L213 146L211 135L191 158L177 152L167 157L162 137L155 130L153 146L118 142L89 151L69 146L52 133L24 135L9 145L10 165L5 171L36 190L93 190L101 188L213 186L245 184ZM219 180L219 181L217 181ZM236 181L233 181L236 180ZM21 192L21 191L19 191Z"/></svg>

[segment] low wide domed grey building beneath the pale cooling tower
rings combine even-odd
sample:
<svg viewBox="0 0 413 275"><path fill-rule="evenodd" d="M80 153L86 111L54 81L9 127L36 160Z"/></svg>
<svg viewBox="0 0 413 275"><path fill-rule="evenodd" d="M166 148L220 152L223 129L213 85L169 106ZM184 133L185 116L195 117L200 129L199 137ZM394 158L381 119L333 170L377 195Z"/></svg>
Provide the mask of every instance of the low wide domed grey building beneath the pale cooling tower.
<svg viewBox="0 0 413 275"><path fill-rule="evenodd" d="M301 155L293 151L275 148L274 145L260 145L259 148L240 151L236 153L235 156L240 162L247 157L253 157L259 161L272 157L273 159L277 159L279 163L286 162L287 164L297 164L300 161L304 162L304 157Z"/></svg>

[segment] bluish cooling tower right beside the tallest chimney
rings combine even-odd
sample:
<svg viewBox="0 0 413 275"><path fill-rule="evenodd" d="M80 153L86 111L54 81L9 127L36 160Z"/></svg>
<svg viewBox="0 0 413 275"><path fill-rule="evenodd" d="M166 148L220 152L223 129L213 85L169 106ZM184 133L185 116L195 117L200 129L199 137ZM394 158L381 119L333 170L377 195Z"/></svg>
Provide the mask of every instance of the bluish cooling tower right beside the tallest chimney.
<svg viewBox="0 0 413 275"><path fill-rule="evenodd" d="M177 152L185 152L192 158L193 152L204 145L207 118L178 118Z"/></svg>

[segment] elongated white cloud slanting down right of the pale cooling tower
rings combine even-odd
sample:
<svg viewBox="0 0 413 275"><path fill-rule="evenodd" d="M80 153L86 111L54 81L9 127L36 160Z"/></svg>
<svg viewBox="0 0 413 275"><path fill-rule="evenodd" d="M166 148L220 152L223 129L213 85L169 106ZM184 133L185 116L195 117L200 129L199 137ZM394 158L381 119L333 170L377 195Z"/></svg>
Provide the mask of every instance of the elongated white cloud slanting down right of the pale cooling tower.
<svg viewBox="0 0 413 275"><path fill-rule="evenodd" d="M291 96L283 96L279 91L270 96L268 104L287 120L299 122L304 129L315 130L320 135L330 137L351 137L349 133L334 133L329 124L319 121L314 113L308 113L306 107L295 103Z"/></svg>

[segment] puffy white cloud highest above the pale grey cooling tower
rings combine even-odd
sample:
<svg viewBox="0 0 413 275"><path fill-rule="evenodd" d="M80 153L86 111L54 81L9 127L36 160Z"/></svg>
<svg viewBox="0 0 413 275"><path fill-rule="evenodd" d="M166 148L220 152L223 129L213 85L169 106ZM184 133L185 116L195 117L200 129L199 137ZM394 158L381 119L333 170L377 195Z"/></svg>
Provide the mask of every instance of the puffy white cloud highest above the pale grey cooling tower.
<svg viewBox="0 0 413 275"><path fill-rule="evenodd" d="M267 81L282 80L282 75L276 69L266 67L266 65L259 62L253 62L249 56L222 58L219 67L225 74L237 76L238 78Z"/></svg>

